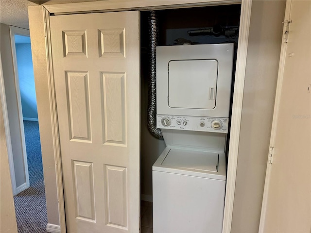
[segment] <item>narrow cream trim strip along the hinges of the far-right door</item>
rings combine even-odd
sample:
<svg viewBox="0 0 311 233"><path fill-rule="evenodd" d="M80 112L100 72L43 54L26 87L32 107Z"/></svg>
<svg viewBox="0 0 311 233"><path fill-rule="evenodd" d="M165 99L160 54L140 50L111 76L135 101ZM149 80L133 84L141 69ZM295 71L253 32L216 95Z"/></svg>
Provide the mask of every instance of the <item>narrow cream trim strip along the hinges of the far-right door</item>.
<svg viewBox="0 0 311 233"><path fill-rule="evenodd" d="M292 0L286 1L286 8L285 8L285 16L284 20L290 20L290 13L291 13L291 5ZM277 83L276 83L276 98L274 103L274 111L273 111L273 119L272 119L272 127L271 127L271 136L270 136L270 147L274 146L274 142L276 139L276 127L277 127L277 118L279 113L279 106L281 100L281 93L282 93L282 83L283 83L283 76L284 76L284 68L285 68L285 60L286 60L286 50L287 50L287 43L284 43L284 32L286 31L286 24L284 23L283 26L283 36L282 36L282 45L281 45L281 53L280 53L280 62L278 67L278 74L277 74ZM271 164L269 164L269 151L267 151L267 169L266 169L266 177L264 181L264 189L263 189L263 197L262 197L262 205L261 205L261 213L260 213L260 221L259 221L259 233L263 233L265 218L266 218L266 210L268 204L268 193L269 193L269 186L270 186L270 177L271 177Z"/></svg>

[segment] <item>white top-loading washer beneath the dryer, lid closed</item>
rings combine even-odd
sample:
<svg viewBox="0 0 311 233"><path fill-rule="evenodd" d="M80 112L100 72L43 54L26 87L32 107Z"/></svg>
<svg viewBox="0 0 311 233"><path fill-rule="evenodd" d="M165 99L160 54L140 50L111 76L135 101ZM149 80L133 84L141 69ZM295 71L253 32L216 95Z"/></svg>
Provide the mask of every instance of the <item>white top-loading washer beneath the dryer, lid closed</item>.
<svg viewBox="0 0 311 233"><path fill-rule="evenodd" d="M178 130L163 133L169 146L152 171L154 233L222 232L225 134L189 131L185 135L185 131ZM185 146L183 138L188 138Z"/></svg>

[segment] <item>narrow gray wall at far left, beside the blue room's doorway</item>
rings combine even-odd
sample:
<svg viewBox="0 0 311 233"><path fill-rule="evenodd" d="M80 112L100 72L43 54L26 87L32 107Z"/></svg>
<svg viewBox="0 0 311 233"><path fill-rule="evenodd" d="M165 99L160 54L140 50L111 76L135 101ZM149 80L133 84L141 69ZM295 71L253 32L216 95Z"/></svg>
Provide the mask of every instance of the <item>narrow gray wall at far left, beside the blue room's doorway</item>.
<svg viewBox="0 0 311 233"><path fill-rule="evenodd" d="M17 107L17 93L15 89L15 78L13 68L13 58L11 52L10 29L6 24L0 25L0 48L2 58L3 79L5 87L6 102L8 108L9 125L11 133L11 143L13 161L15 169L16 186L26 182L23 149L20 137L20 121Z"/></svg>

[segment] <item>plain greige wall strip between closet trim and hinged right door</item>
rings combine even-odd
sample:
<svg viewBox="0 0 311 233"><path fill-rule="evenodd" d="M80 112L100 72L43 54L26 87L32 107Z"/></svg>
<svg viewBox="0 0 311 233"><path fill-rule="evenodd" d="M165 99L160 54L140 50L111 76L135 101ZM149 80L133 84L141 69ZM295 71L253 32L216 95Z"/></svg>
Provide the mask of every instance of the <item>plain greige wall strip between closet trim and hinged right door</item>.
<svg viewBox="0 0 311 233"><path fill-rule="evenodd" d="M259 230L285 3L252 3L232 233Z"/></svg>

